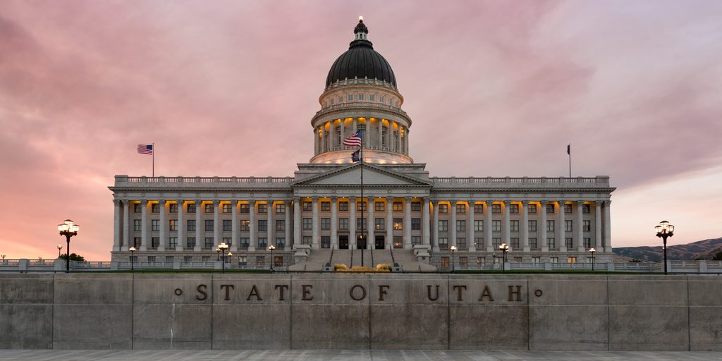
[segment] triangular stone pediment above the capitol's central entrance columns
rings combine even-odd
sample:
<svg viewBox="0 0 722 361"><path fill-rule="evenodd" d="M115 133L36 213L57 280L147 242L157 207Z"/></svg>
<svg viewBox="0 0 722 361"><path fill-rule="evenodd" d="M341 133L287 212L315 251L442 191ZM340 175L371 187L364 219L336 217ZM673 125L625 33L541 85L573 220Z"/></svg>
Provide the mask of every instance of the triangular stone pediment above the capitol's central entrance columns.
<svg viewBox="0 0 722 361"><path fill-rule="evenodd" d="M360 164L349 165L298 181L293 186L360 186L361 167ZM431 186L425 181L366 164L363 165L363 183L364 186Z"/></svg>

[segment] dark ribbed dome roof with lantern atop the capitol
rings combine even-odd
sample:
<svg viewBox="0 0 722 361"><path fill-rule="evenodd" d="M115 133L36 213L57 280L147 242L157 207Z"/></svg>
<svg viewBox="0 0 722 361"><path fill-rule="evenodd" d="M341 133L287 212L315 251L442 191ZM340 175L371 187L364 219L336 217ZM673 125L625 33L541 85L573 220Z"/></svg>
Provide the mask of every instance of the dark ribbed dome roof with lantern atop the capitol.
<svg viewBox="0 0 722 361"><path fill-rule="evenodd" d="M345 79L376 79L388 82L396 87L396 77L391 65L388 65L380 53L373 50L373 44L367 40L368 29L363 20L359 20L354 29L356 39L349 45L349 50L334 61L326 77L326 86Z"/></svg>

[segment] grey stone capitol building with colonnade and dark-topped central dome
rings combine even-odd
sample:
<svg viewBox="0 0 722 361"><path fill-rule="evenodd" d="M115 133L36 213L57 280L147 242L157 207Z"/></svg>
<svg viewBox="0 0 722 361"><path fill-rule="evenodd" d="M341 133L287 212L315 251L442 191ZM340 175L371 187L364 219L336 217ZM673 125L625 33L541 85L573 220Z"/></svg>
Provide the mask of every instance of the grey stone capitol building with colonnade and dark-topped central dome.
<svg viewBox="0 0 722 361"><path fill-rule="evenodd" d="M313 156L293 176L116 175L112 260L214 262L226 243L234 267L488 269L505 243L512 263L612 262L608 176L436 177L415 162L404 97L362 20L319 103ZM357 131L362 162L343 142Z"/></svg>

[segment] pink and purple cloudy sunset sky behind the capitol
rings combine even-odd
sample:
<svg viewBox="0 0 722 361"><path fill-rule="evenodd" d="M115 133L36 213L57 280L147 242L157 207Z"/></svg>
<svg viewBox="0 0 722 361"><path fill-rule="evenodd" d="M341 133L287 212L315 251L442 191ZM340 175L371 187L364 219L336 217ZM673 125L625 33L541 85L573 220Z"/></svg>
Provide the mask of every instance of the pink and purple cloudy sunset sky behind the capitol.
<svg viewBox="0 0 722 361"><path fill-rule="evenodd" d="M722 1L0 4L0 253L110 259L114 175L288 176L363 15L430 175L609 175L612 245L722 237ZM451 161L449 161L451 160Z"/></svg>

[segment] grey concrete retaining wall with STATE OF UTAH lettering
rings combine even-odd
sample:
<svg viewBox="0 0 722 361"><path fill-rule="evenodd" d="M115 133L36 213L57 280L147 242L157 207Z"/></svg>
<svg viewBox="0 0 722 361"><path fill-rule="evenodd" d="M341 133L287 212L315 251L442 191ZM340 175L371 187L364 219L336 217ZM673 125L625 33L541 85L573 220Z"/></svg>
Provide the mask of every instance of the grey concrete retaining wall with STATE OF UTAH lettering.
<svg viewBox="0 0 722 361"><path fill-rule="evenodd" d="M722 279L0 274L0 348L719 351Z"/></svg>

